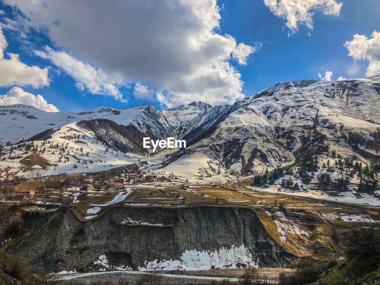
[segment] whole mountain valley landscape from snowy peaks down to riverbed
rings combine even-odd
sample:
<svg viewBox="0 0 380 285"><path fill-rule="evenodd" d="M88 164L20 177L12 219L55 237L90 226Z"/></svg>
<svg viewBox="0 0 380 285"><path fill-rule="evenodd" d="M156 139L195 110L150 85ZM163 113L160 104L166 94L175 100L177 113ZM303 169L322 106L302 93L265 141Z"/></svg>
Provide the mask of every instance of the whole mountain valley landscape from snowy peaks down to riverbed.
<svg viewBox="0 0 380 285"><path fill-rule="evenodd" d="M0 106L2 252L89 284L236 282L247 268L273 283L310 258L343 262L353 229L380 221L379 82L280 82L163 110Z"/></svg>

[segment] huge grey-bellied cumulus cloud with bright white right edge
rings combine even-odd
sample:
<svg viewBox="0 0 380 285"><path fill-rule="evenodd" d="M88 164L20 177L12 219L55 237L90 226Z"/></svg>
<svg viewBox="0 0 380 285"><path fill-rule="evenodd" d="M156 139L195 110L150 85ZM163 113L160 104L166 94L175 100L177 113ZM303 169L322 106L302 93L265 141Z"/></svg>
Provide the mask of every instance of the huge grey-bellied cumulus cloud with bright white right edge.
<svg viewBox="0 0 380 285"><path fill-rule="evenodd" d="M216 0L5 2L47 30L73 58L107 74L123 74L128 82L165 90L157 97L162 102L222 104L244 98L244 82L229 61L245 64L257 47L217 32ZM100 21L105 15L112 15L112 21Z"/></svg>

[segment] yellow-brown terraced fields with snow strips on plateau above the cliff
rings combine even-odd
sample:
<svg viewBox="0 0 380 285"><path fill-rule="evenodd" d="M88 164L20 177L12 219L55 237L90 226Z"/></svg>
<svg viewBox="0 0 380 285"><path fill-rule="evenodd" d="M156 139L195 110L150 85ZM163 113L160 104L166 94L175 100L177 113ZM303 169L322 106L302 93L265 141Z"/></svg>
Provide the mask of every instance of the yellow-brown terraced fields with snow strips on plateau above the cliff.
<svg viewBox="0 0 380 285"><path fill-rule="evenodd" d="M269 236L288 252L321 259L342 251L338 236L347 233L353 222L380 220L376 207L268 193L240 185L174 181L123 186L121 191L79 192L70 188L40 194L29 199L23 209L47 212L68 207L78 220L87 222L99 218L113 206L248 208L255 212ZM144 217L127 217L114 222L127 226L170 226Z"/></svg>

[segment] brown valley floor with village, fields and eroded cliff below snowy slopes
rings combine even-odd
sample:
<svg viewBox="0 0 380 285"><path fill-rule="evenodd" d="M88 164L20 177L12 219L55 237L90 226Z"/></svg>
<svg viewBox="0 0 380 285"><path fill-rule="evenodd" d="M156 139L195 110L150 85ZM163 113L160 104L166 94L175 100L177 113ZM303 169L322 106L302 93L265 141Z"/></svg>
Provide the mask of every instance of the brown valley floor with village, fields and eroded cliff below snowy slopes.
<svg viewBox="0 0 380 285"><path fill-rule="evenodd" d="M103 171L91 178L72 174L18 184L16 191L32 185L42 190L2 202L2 250L22 253L33 268L54 272L62 282L138 280L151 270L176 284L222 280L223 274L236 281L246 266L273 268L263 276L275 280L301 258L343 256L352 225L380 220L375 206L239 184L189 182L165 174L154 181L119 182L144 174ZM93 179L96 189L80 190L77 181L86 179ZM183 271L190 279L176 278ZM194 276L197 271L209 277Z"/></svg>

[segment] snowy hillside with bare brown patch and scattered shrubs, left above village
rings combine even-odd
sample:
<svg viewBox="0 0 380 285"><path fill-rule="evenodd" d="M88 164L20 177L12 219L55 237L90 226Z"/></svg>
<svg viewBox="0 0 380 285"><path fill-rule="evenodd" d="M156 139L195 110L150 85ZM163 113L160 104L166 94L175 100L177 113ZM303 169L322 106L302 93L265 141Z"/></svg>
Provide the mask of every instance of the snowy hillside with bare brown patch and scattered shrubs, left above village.
<svg viewBox="0 0 380 285"><path fill-rule="evenodd" d="M4 172L26 177L99 171L144 159L110 149L93 132L76 123L59 128L44 141L24 142L5 150L9 157L0 163L7 169Z"/></svg>

